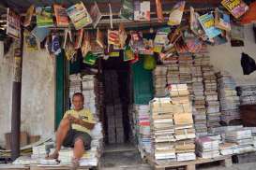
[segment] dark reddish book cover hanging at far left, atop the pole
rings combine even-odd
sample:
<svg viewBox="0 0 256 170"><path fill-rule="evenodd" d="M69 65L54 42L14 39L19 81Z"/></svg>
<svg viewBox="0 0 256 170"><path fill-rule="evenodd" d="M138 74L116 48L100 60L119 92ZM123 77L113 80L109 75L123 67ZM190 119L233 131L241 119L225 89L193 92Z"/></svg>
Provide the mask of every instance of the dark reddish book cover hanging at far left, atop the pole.
<svg viewBox="0 0 256 170"><path fill-rule="evenodd" d="M21 18L8 7L8 28L7 34L14 37L21 37Z"/></svg>

